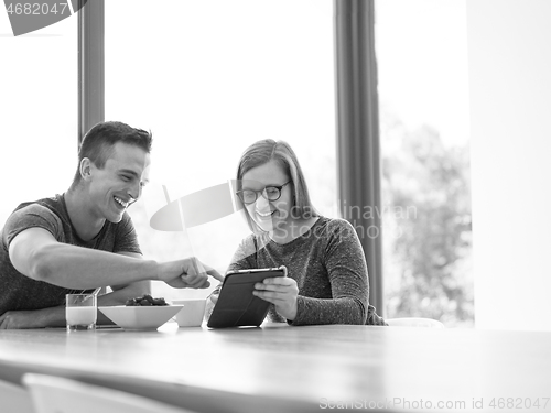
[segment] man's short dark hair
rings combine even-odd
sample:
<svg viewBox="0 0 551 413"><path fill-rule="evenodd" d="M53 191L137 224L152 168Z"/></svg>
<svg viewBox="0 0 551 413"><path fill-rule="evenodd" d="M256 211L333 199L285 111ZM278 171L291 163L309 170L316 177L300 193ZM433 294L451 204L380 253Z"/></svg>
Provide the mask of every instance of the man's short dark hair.
<svg viewBox="0 0 551 413"><path fill-rule="evenodd" d="M83 139L78 150L78 166L73 178L72 187L80 182L80 161L88 157L94 165L102 169L112 154L112 146L122 142L151 152L153 135L142 129L132 128L122 122L100 122L91 128Z"/></svg>

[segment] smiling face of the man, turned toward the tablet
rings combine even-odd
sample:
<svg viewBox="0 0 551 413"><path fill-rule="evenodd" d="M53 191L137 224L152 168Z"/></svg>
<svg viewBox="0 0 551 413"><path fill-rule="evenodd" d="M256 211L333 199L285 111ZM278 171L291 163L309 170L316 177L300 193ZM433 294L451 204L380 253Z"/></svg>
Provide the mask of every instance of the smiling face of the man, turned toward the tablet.
<svg viewBox="0 0 551 413"><path fill-rule="evenodd" d="M150 155L139 146L117 143L104 169L90 165L89 196L93 214L119 222L125 210L141 195L149 182Z"/></svg>

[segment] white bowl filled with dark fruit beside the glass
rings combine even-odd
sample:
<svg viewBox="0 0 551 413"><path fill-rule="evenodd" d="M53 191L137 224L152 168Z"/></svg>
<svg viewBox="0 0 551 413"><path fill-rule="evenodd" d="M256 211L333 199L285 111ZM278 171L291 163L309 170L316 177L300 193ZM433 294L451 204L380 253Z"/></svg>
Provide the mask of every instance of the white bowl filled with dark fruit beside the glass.
<svg viewBox="0 0 551 413"><path fill-rule="evenodd" d="M182 305L98 307L109 319L125 329L156 329L182 308Z"/></svg>

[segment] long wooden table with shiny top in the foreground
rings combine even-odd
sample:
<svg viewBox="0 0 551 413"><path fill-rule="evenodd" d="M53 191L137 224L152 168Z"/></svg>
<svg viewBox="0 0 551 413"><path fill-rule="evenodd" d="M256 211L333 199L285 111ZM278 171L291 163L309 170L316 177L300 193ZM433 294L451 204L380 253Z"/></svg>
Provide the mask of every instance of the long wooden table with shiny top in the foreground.
<svg viewBox="0 0 551 413"><path fill-rule="evenodd" d="M386 412L551 411L551 333L537 332L174 323L155 332L1 330L0 378L18 381L25 371L209 413L343 411L343 403Z"/></svg>

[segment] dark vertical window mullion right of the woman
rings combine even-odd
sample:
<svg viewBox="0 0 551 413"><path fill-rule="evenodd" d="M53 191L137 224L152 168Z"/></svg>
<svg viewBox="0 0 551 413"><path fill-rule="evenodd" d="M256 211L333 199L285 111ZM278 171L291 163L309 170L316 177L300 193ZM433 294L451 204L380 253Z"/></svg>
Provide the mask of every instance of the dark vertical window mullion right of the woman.
<svg viewBox="0 0 551 413"><path fill-rule="evenodd" d="M369 302L383 312L374 0L334 0L339 211L358 232Z"/></svg>

